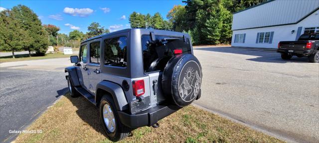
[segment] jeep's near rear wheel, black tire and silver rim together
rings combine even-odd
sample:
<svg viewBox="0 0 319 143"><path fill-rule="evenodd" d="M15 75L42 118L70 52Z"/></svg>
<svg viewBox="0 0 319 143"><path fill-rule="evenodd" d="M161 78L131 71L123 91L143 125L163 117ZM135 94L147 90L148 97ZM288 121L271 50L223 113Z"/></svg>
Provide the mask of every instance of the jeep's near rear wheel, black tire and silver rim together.
<svg viewBox="0 0 319 143"><path fill-rule="evenodd" d="M101 99L100 119L107 137L113 142L123 140L131 133L131 128L121 123L114 101L108 95Z"/></svg>

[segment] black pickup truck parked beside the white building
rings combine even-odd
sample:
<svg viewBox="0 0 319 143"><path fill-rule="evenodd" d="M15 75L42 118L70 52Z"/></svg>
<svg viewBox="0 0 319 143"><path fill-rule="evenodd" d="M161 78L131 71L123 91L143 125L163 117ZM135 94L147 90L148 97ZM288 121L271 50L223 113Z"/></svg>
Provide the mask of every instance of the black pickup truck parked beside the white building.
<svg viewBox="0 0 319 143"><path fill-rule="evenodd" d="M284 60L307 56L309 62L319 63L319 33L303 34L298 41L280 41L277 52Z"/></svg>

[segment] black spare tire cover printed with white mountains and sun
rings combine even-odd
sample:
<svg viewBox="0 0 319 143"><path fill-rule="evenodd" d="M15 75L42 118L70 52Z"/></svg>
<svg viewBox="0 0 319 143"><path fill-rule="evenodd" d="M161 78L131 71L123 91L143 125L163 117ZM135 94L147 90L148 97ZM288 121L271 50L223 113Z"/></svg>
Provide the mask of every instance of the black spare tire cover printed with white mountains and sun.
<svg viewBox="0 0 319 143"><path fill-rule="evenodd" d="M162 74L162 90L171 95L177 106L184 107L195 100L201 85L201 66L194 55L172 57Z"/></svg>

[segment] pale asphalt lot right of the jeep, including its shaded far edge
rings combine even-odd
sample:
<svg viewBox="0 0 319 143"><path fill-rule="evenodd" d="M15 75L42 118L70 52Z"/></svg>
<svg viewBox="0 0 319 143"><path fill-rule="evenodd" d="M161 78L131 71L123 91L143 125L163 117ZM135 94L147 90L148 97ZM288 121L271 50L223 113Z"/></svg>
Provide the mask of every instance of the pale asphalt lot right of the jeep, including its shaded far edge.
<svg viewBox="0 0 319 143"><path fill-rule="evenodd" d="M319 142L319 64L274 51L196 48L203 70L195 104L301 143Z"/></svg>

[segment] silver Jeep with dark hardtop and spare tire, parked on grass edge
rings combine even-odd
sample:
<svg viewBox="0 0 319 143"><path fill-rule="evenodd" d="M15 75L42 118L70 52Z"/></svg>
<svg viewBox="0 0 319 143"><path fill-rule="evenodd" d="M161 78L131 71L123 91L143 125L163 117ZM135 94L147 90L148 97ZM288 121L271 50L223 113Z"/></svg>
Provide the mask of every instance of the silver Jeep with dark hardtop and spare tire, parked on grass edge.
<svg viewBox="0 0 319 143"><path fill-rule="evenodd" d="M71 97L100 109L111 141L132 129L158 127L160 119L200 98L201 66L186 33L124 29L81 43L65 68Z"/></svg>

